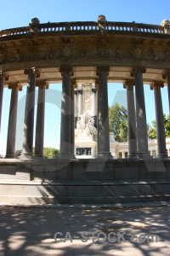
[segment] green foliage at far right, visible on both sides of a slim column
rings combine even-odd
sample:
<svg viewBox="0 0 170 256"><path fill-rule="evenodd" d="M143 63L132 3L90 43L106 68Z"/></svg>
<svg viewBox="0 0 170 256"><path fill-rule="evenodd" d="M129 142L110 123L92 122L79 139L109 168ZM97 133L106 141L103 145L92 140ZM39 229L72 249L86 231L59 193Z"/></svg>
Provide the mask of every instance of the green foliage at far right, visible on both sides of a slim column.
<svg viewBox="0 0 170 256"><path fill-rule="evenodd" d="M163 115L164 126L165 126L165 136L170 137L170 114ZM148 137L150 139L156 139L156 120L153 120L152 125L148 125Z"/></svg>

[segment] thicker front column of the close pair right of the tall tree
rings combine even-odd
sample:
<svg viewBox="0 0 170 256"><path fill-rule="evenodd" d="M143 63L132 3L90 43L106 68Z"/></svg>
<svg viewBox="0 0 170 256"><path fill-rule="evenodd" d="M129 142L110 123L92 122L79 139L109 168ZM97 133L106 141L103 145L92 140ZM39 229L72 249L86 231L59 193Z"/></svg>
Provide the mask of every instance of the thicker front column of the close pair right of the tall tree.
<svg viewBox="0 0 170 256"><path fill-rule="evenodd" d="M135 79L138 157L141 159L150 157L148 151L143 73L145 73L144 67L134 67L131 73L131 76L134 76Z"/></svg>

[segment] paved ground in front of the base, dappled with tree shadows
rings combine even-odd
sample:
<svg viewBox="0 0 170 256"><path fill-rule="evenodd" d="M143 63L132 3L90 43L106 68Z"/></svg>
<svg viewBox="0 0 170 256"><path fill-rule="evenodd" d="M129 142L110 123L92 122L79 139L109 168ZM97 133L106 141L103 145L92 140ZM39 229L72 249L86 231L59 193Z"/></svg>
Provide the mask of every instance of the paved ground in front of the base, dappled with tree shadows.
<svg viewBox="0 0 170 256"><path fill-rule="evenodd" d="M146 207L0 206L1 256L169 256L169 241L167 203Z"/></svg>

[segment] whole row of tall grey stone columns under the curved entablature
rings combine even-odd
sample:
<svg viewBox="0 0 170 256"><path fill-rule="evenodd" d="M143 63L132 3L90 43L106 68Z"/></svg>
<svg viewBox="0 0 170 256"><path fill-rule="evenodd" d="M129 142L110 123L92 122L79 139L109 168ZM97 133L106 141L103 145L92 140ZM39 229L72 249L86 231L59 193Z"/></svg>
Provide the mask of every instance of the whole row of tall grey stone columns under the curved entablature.
<svg viewBox="0 0 170 256"><path fill-rule="evenodd" d="M97 122L98 129L98 158L112 159L110 152L109 140L109 115L108 115L108 90L107 77L110 67L103 66L96 68L96 85L93 88L93 101L98 102L98 113L96 113L95 104L93 107L93 117ZM123 87L127 89L127 126L128 126L128 157L139 158L150 157L148 150L147 123L144 103L144 85L143 73L144 67L133 67L131 77L126 79ZM34 106L35 106L35 88L38 86L38 102L37 102L37 124L35 138L35 155L43 156L43 135L44 135L44 108L45 108L45 90L48 84L45 80L36 80L40 78L40 73L36 68L26 69L24 73L27 75L27 91L26 91L26 110L24 120L24 137L21 158L32 157L33 147L33 127L34 127ZM73 159L74 156L74 130L77 119L82 115L82 89L75 86L76 79L72 79L72 67L59 67L59 73L62 76L62 99L61 99L61 125L60 125L60 159ZM167 79L168 100L170 105L170 71L167 70L163 74ZM8 79L5 73L0 73L0 124L3 104L3 84L4 79ZM135 87L135 104L134 92ZM165 130L163 123L163 112L161 104L161 81L153 81L150 89L154 90L156 104L156 134L157 134L157 157L167 157ZM16 136L16 118L17 118L17 102L18 91L21 86L18 83L8 84L11 92L10 111L8 119L8 138L7 138L7 158L14 158L15 136ZM96 94L96 90L98 93ZM96 98L97 96L97 98ZM78 112L77 106L78 104ZM136 113L135 113L136 109Z"/></svg>

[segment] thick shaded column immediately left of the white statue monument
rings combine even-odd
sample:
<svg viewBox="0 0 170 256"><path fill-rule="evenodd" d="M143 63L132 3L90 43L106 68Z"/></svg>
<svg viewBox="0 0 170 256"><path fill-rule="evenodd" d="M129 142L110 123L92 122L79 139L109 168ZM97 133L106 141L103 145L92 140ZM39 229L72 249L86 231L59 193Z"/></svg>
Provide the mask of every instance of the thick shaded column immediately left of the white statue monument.
<svg viewBox="0 0 170 256"><path fill-rule="evenodd" d="M60 67L62 79L60 154L59 158L74 158L71 154L71 67Z"/></svg>

